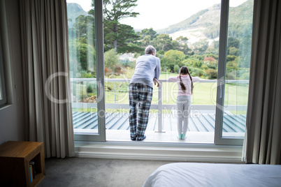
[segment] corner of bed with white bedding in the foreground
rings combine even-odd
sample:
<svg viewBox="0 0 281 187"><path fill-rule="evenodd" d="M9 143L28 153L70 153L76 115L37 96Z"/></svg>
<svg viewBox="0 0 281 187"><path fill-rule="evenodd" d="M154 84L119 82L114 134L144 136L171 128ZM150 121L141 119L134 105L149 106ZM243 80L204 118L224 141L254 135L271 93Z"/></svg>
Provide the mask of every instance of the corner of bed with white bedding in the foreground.
<svg viewBox="0 0 281 187"><path fill-rule="evenodd" d="M150 186L281 186L281 165L170 163L150 174Z"/></svg>

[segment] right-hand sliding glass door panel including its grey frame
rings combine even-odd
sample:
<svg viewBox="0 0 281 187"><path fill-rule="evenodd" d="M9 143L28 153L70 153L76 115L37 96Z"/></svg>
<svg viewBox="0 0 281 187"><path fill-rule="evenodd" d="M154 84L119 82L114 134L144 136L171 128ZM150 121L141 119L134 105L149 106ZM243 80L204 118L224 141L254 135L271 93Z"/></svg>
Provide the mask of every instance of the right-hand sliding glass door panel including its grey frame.
<svg viewBox="0 0 281 187"><path fill-rule="evenodd" d="M249 90L254 1L222 1L215 144L243 144ZM238 14L239 13L239 14Z"/></svg>

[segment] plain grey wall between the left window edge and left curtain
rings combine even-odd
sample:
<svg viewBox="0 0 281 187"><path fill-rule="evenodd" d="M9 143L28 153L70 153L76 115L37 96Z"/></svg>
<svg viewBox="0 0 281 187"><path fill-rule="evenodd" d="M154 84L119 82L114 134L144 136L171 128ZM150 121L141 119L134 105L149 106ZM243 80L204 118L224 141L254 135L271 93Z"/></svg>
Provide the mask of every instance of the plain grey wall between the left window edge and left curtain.
<svg viewBox="0 0 281 187"><path fill-rule="evenodd" d="M0 108L0 144L26 140L19 0L0 1L0 33L8 105Z"/></svg>

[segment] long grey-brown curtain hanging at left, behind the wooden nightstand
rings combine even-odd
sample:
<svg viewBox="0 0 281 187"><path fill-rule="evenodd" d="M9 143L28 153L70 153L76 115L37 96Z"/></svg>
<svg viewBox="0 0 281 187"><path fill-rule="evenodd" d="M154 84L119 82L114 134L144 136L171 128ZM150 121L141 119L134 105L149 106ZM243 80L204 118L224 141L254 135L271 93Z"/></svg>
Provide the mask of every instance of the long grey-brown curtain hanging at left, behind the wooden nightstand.
<svg viewBox="0 0 281 187"><path fill-rule="evenodd" d="M66 1L21 0L20 14L29 141L74 156Z"/></svg>

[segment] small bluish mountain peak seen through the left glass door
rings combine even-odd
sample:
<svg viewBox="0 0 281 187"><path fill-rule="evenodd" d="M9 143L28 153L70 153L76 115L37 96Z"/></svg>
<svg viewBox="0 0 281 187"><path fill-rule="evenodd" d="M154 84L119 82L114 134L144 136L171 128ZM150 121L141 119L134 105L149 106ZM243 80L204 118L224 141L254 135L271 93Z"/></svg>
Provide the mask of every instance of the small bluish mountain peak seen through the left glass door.
<svg viewBox="0 0 281 187"><path fill-rule="evenodd" d="M67 18L69 20L69 27L72 27L75 22L75 18L79 15L88 15L78 3L66 3L67 6Z"/></svg>

